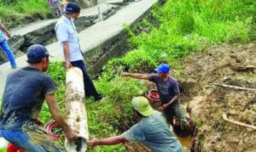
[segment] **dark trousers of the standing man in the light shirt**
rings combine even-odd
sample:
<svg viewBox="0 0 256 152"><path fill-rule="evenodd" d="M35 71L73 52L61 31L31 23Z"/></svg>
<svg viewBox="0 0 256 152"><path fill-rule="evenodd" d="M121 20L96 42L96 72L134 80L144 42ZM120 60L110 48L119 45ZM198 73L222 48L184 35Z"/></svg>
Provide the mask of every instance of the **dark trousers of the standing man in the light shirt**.
<svg viewBox="0 0 256 152"><path fill-rule="evenodd" d="M94 87L89 74L87 73L86 69L85 69L85 65L84 65L84 61L83 60L77 60L77 61L73 61L71 62L71 64L73 66L79 67L80 70L82 70L83 72L83 76L84 76L84 92L85 92L85 97L97 97L98 93L96 91L96 88Z"/></svg>

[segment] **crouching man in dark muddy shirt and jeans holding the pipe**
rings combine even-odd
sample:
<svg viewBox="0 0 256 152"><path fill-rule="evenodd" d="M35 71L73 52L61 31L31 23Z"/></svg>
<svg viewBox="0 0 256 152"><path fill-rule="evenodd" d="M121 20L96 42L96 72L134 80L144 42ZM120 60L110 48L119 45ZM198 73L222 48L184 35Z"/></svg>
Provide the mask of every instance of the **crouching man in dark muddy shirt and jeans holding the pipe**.
<svg viewBox="0 0 256 152"><path fill-rule="evenodd" d="M51 141L41 127L38 114L44 99L49 112L66 134L77 138L77 132L68 127L55 101L55 82L44 71L48 70L49 53L43 45L35 44L27 50L28 66L9 74L0 110L0 137L26 151L65 151Z"/></svg>

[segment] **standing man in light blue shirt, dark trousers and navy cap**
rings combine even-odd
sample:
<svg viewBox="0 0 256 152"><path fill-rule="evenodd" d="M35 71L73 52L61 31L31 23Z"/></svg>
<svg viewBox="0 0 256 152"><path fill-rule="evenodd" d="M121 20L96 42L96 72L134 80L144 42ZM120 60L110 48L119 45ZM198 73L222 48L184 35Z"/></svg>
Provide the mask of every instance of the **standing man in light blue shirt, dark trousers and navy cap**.
<svg viewBox="0 0 256 152"><path fill-rule="evenodd" d="M64 53L67 68L79 67L84 75L84 92L86 97L102 99L102 94L96 92L84 65L84 56L79 44L79 35L73 20L78 20L80 8L76 3L67 3L65 14L55 25L56 36Z"/></svg>

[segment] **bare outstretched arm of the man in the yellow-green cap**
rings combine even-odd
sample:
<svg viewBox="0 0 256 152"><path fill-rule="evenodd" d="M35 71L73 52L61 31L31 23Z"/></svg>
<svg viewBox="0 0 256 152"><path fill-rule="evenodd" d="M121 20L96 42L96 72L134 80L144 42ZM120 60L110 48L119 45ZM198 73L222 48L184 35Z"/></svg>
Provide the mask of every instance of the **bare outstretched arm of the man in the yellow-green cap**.
<svg viewBox="0 0 256 152"><path fill-rule="evenodd" d="M87 142L91 147L96 145L112 145L112 144L120 144L128 142L122 135L114 136L111 138L104 138L104 139L91 139Z"/></svg>

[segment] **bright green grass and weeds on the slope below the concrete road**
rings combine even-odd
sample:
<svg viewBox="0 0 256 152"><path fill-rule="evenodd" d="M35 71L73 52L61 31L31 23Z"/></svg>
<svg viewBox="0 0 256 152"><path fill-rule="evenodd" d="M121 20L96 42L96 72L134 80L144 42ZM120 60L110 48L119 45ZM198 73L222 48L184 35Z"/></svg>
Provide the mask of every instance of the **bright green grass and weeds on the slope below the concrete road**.
<svg viewBox="0 0 256 152"><path fill-rule="evenodd" d="M112 59L105 65L96 88L105 99L95 102L86 100L90 136L104 138L125 131L132 120L131 98L146 90L141 81L119 77L122 71L150 72L161 62L176 69L182 75L178 59L190 53L203 51L209 45L222 42L248 42L255 28L255 6L253 0L169 0L164 7L154 5L152 14L159 25L143 20L135 27L127 27L131 46L135 48L123 58ZM137 35L137 28L148 29ZM63 110L65 70L61 63L50 65L49 75L58 84L57 99ZM44 121L50 115L44 104L41 113ZM201 122L197 122L201 126ZM125 151L123 145L98 146L91 151Z"/></svg>

